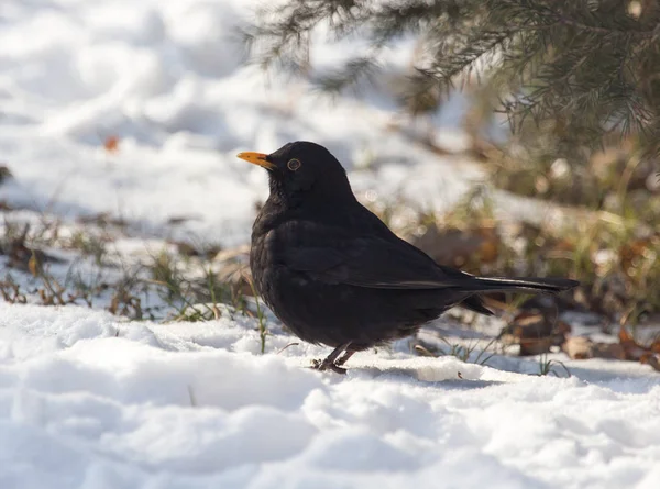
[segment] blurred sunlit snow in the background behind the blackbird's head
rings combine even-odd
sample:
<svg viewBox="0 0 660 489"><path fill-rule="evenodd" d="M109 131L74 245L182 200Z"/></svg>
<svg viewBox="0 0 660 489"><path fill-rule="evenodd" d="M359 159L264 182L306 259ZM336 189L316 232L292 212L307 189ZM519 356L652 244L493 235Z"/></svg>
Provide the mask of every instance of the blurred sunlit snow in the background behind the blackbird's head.
<svg viewBox="0 0 660 489"><path fill-rule="evenodd" d="M386 131L394 114L383 97L332 105L301 81L242 66L235 27L256 3L3 1L0 152L18 186L3 192L40 210L109 211L147 229L195 216L188 232L235 244L267 189L263 170L235 158L240 151L309 140L349 167L365 152L395 168L419 165L395 190L409 184L404 193L417 196L421 186L435 205L455 201L465 178L480 177ZM393 63L409 58L410 43L402 46ZM315 55L338 56L345 46L321 45ZM118 154L102 149L109 136L120 138ZM447 173L438 175L439 164ZM367 173L355 181L359 190L392 178Z"/></svg>

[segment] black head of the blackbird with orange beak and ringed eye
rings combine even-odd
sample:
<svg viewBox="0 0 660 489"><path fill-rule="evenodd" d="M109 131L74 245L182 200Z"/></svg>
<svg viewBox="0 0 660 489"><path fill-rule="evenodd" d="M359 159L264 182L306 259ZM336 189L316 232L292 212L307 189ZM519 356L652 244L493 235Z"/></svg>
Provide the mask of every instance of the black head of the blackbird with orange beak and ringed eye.
<svg viewBox="0 0 660 489"><path fill-rule="evenodd" d="M270 155L249 152L238 157L267 169L271 196L287 203L355 199L341 163L319 144L297 141Z"/></svg>

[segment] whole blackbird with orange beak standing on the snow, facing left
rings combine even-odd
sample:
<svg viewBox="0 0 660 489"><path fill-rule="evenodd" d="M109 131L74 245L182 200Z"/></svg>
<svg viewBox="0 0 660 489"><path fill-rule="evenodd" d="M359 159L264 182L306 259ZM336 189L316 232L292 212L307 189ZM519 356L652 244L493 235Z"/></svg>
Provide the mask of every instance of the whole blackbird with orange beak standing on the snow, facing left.
<svg viewBox="0 0 660 489"><path fill-rule="evenodd" d="M239 158L268 170L271 195L252 227L257 292L306 342L334 347L319 370L402 338L454 305L482 314L481 292L560 292L563 278L483 278L438 265L397 237L351 190L345 170L315 143ZM343 353L343 356L340 355Z"/></svg>

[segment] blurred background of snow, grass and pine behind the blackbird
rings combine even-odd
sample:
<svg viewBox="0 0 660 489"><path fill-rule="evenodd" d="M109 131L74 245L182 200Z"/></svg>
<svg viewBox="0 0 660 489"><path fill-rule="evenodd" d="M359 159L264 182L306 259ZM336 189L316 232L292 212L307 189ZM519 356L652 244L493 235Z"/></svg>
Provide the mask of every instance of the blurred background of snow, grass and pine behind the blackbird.
<svg viewBox="0 0 660 489"><path fill-rule="evenodd" d="M2 296L245 307L267 180L235 154L306 140L439 263L658 325L659 26L656 0L3 0Z"/></svg>

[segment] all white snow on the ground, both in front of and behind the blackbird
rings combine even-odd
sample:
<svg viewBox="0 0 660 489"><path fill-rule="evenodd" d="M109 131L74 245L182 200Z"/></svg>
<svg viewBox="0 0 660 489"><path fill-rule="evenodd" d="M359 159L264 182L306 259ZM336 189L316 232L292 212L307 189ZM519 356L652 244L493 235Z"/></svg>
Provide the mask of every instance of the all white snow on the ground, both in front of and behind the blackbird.
<svg viewBox="0 0 660 489"><path fill-rule="evenodd" d="M483 179L387 130L395 110L384 98L332 105L302 81L266 84L242 66L233 27L255 3L2 0L0 164L15 178L0 201L28 209L4 218L73 225L109 212L131 223L124 253L165 237L245 243L267 186L235 154L292 140L331 148L367 200L443 209ZM351 46L321 43L312 60L331 66ZM410 49L402 41L385 62L403 67ZM462 103L436 118L454 145ZM482 366L399 342L356 355L342 378L305 368L327 349L280 352L295 338L270 327L262 355L240 314L161 324L0 303L0 488L660 484L660 378L649 366L566 362L571 378L539 377L534 358Z"/></svg>

